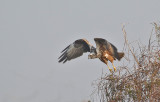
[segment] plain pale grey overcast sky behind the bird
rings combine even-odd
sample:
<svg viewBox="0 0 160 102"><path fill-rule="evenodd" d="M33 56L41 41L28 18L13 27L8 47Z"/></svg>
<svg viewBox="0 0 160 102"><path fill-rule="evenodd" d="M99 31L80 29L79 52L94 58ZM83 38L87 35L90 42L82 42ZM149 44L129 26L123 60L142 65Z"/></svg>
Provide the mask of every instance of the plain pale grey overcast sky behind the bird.
<svg viewBox="0 0 160 102"><path fill-rule="evenodd" d="M160 0L1 0L0 101L82 102L102 70L88 55L58 63L76 39L102 37L123 50L122 23L130 41L146 44ZM119 66L124 62L115 62Z"/></svg>

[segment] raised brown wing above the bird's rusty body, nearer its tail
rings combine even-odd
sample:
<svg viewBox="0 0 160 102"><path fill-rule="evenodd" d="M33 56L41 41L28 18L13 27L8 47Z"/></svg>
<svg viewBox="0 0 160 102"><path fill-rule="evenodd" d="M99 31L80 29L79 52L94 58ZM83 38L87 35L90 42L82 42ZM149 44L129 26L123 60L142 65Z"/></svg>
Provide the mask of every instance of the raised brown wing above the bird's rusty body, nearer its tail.
<svg viewBox="0 0 160 102"><path fill-rule="evenodd" d="M96 46L103 47L103 50L107 50L114 58L120 59L117 48L113 44L102 38L94 38L94 41L96 42Z"/></svg>

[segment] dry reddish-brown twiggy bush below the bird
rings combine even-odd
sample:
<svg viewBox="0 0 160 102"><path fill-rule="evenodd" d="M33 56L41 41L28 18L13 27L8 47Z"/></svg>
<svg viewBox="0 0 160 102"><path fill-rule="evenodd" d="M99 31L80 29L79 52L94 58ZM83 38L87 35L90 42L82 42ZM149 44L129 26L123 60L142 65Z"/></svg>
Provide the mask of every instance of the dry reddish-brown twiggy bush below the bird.
<svg viewBox="0 0 160 102"><path fill-rule="evenodd" d="M153 26L148 45L137 42L138 50L128 42L122 27L125 58L130 64L120 66L116 73L102 74L96 84L100 102L160 101L160 26Z"/></svg>

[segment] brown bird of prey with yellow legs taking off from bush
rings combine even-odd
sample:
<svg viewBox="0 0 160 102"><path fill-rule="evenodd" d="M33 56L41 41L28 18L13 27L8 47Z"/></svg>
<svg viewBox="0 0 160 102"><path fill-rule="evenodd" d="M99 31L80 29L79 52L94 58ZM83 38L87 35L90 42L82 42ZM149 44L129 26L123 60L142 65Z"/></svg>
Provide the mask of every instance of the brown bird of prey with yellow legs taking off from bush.
<svg viewBox="0 0 160 102"><path fill-rule="evenodd" d="M118 52L113 44L103 38L94 38L94 41L96 43L96 48L86 39L78 39L74 41L61 52L62 55L58 58L59 62L65 63L66 61L82 56L85 52L90 52L88 59L99 58L107 66L109 60L113 65L114 71L116 71L113 61L116 59L120 61L124 56L124 53ZM108 68L112 72L112 69L109 66Z"/></svg>

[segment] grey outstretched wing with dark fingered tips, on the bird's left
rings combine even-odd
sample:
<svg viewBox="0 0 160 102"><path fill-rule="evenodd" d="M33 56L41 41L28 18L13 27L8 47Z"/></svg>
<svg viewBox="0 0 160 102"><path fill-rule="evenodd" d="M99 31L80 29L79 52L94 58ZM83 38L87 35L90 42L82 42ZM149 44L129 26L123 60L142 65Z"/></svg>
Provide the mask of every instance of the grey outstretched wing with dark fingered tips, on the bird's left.
<svg viewBox="0 0 160 102"><path fill-rule="evenodd" d="M58 58L59 62L65 63L71 59L82 56L85 52L90 52L90 43L85 39L76 40L74 43L67 46Z"/></svg>

